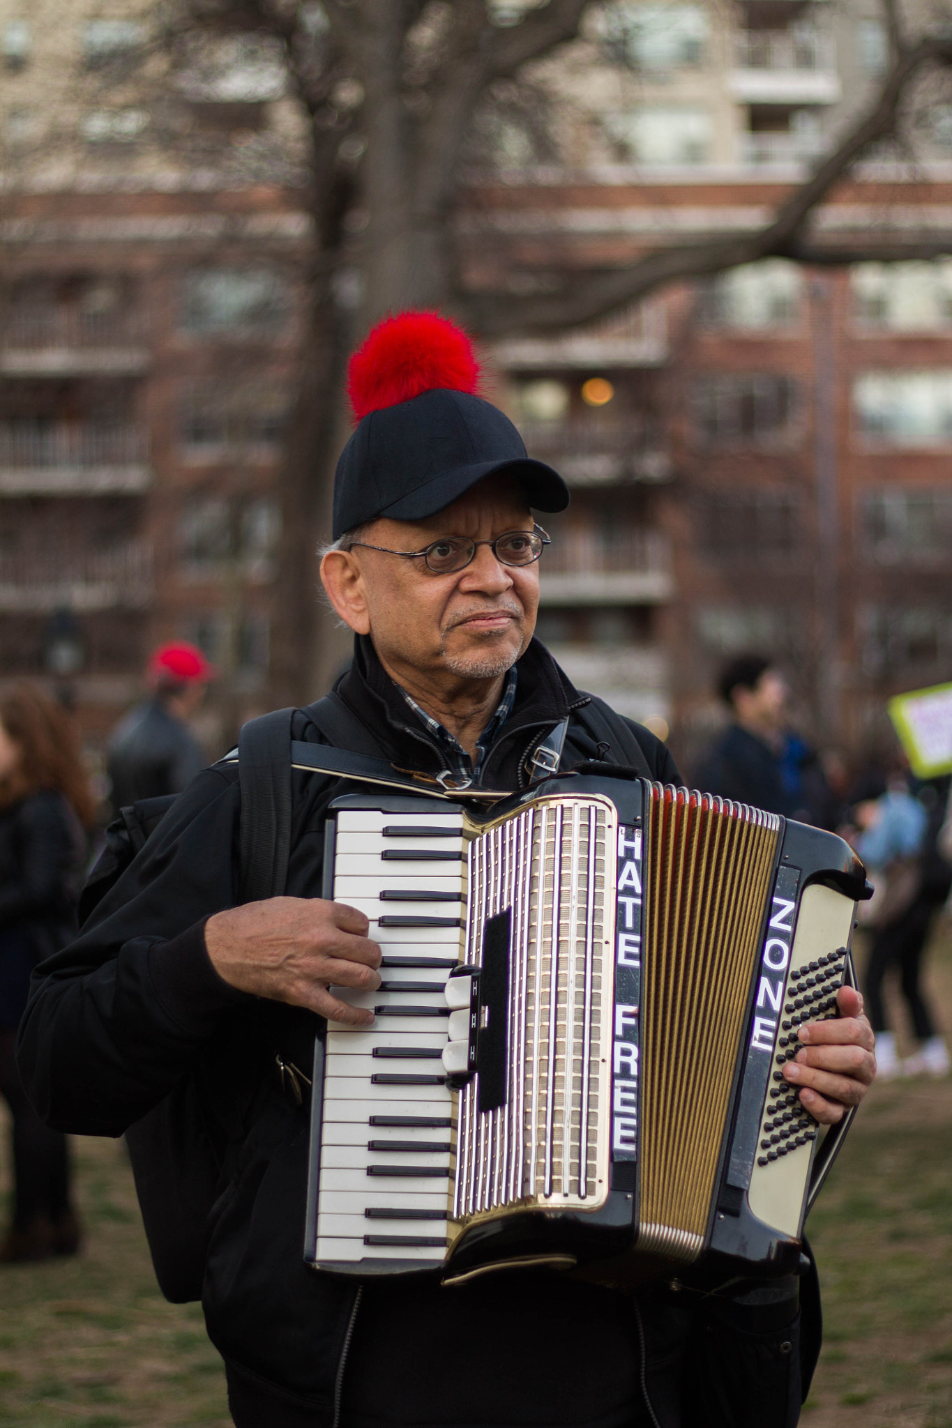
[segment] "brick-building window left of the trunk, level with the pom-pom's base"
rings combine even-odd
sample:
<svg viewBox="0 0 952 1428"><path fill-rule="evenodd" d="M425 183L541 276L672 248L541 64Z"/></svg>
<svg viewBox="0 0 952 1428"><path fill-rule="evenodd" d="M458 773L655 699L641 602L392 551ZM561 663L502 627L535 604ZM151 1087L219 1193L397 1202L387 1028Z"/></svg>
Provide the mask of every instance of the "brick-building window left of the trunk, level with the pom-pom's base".
<svg viewBox="0 0 952 1428"><path fill-rule="evenodd" d="M181 443L198 461L254 448L270 453L281 441L285 411L287 393L275 383L197 378L181 396Z"/></svg>

